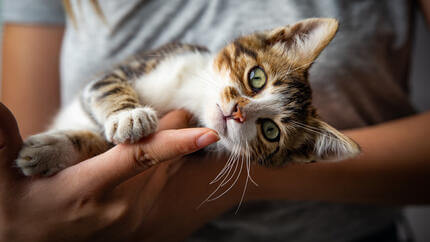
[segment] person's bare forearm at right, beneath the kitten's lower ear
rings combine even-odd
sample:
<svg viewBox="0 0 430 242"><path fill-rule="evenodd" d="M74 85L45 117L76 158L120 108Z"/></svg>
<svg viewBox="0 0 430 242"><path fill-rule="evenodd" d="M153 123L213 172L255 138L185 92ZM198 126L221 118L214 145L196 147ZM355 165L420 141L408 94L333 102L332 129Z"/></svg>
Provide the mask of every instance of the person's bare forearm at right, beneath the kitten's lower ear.
<svg viewBox="0 0 430 242"><path fill-rule="evenodd" d="M430 113L345 132L362 147L352 160L254 167L250 199L430 203Z"/></svg>

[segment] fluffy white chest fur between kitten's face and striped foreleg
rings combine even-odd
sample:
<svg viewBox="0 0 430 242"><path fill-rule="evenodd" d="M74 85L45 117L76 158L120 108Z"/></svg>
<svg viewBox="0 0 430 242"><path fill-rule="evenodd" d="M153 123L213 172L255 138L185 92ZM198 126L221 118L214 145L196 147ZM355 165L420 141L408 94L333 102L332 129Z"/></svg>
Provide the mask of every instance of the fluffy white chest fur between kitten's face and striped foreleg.
<svg viewBox="0 0 430 242"><path fill-rule="evenodd" d="M134 84L142 104L149 104L159 115L183 108L200 116L205 100L211 95L207 79L212 60L212 55L202 53L163 60Z"/></svg>

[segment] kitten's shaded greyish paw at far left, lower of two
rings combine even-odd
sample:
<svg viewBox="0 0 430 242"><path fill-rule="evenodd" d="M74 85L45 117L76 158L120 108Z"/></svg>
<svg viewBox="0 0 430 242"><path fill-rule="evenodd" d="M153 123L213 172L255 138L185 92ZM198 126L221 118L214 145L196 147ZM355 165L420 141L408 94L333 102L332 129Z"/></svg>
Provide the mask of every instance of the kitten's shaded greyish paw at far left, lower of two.
<svg viewBox="0 0 430 242"><path fill-rule="evenodd" d="M37 134L28 138L19 152L16 165L26 176L50 176L76 159L70 141L62 134Z"/></svg>

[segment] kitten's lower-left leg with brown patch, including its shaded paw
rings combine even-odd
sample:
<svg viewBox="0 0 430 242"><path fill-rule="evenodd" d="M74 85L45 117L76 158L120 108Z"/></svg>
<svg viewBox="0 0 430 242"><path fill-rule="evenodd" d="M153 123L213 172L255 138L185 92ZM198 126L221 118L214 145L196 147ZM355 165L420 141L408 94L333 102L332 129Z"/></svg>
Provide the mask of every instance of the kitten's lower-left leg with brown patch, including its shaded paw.
<svg viewBox="0 0 430 242"><path fill-rule="evenodd" d="M105 152L111 145L92 131L50 131L29 137L16 160L27 175L52 175L68 166Z"/></svg>

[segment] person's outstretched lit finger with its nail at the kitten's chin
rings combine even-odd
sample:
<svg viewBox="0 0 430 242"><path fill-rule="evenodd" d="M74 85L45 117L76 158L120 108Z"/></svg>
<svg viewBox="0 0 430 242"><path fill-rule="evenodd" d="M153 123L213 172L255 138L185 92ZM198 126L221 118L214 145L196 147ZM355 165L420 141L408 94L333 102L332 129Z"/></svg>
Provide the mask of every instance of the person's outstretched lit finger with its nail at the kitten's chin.
<svg viewBox="0 0 430 242"><path fill-rule="evenodd" d="M81 173L77 178L82 184L80 187L103 191L113 189L123 181L163 161L195 152L218 140L218 134L208 128L164 130L138 144L117 145L66 170L68 173L74 173L77 169Z"/></svg>

